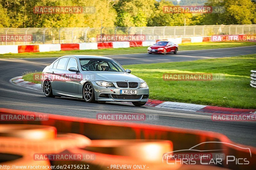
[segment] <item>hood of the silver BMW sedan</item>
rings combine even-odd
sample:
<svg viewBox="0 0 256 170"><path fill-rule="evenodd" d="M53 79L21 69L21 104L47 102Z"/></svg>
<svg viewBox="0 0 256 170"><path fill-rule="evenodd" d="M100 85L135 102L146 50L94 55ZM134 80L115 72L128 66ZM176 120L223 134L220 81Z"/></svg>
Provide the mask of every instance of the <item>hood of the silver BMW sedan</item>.
<svg viewBox="0 0 256 170"><path fill-rule="evenodd" d="M117 81L124 81L128 80L128 82L138 82L143 83L144 80L138 78L132 74L126 72L112 72L112 71L91 71L95 78L98 80L108 81L108 82L117 82Z"/></svg>

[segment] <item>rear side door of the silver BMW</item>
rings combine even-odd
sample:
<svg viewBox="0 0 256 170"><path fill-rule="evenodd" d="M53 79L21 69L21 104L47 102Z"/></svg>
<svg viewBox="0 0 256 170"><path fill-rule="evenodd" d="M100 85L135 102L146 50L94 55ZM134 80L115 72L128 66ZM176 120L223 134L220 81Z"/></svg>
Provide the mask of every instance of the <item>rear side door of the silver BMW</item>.
<svg viewBox="0 0 256 170"><path fill-rule="evenodd" d="M62 79L63 79L63 71L66 68L66 64L68 61L68 57L60 58L54 68L55 63L53 64L53 68L51 70L51 79L52 79L52 89L62 91Z"/></svg>

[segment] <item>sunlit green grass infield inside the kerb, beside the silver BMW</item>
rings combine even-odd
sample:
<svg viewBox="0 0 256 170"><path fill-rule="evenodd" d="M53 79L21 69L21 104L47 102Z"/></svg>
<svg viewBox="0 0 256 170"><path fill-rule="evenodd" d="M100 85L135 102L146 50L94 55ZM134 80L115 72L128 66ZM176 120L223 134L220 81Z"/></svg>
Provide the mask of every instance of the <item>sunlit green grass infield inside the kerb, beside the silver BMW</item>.
<svg viewBox="0 0 256 170"><path fill-rule="evenodd" d="M250 70L256 69L256 55L196 60L189 62L124 65L144 79L150 99L233 108L256 108L256 89L250 84ZM225 74L224 80L164 81L164 73ZM33 80L33 73L24 80Z"/></svg>

